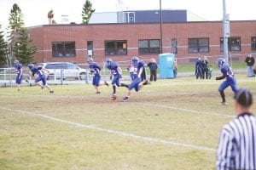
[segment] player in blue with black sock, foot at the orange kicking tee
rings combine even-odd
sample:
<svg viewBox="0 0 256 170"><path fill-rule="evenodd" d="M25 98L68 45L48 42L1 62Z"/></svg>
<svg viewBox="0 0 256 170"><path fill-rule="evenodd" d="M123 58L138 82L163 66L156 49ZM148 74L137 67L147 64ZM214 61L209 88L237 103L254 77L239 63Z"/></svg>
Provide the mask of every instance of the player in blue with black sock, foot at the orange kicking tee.
<svg viewBox="0 0 256 170"><path fill-rule="evenodd" d="M125 85L124 83L120 83L120 78L122 78L122 70L117 63L113 62L112 59L107 59L106 65L108 70L110 71L110 79L112 80L111 82L113 87L112 100L115 100L117 99L116 87L128 88L128 86Z"/></svg>

